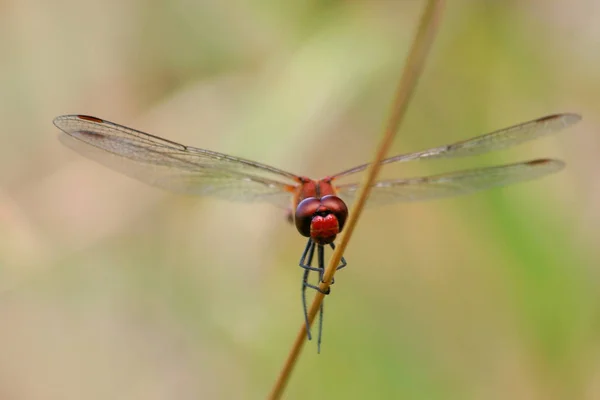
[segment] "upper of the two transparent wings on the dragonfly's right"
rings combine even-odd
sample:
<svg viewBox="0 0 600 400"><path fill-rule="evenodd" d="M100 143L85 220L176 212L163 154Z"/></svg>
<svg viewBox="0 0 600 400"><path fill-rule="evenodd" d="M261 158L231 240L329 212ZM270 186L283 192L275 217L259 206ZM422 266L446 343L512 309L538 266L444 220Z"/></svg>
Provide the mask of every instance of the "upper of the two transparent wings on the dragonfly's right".
<svg viewBox="0 0 600 400"><path fill-rule="evenodd" d="M500 129L472 139L463 140L432 149L418 151L409 154L400 154L383 160L382 164L405 162L412 160L423 160L432 158L453 158L484 154L491 151L502 150L518 144L550 135L559 130L573 125L581 119L577 114L554 114L538 118L533 121L524 122L509 128ZM333 175L333 178L341 178L367 169L369 164L359 165Z"/></svg>

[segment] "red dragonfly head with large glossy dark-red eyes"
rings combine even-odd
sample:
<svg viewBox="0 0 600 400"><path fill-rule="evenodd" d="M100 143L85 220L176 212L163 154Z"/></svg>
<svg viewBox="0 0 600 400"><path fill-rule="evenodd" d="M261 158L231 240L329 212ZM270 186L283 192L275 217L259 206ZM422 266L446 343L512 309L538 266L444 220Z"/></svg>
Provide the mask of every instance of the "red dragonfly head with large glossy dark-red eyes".
<svg viewBox="0 0 600 400"><path fill-rule="evenodd" d="M318 244L329 244L344 229L348 217L346 203L337 196L307 197L296 207L294 221L302 236Z"/></svg>

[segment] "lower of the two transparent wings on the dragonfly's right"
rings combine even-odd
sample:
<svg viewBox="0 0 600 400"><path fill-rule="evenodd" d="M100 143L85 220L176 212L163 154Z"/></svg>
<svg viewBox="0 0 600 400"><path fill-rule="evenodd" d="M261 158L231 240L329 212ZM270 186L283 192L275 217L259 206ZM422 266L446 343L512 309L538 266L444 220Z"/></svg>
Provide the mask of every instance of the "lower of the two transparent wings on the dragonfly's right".
<svg viewBox="0 0 600 400"><path fill-rule="evenodd" d="M396 179L373 185L367 205L439 199L529 181L564 168L559 160L539 159L420 178ZM354 201L359 184L340 185L338 195Z"/></svg>

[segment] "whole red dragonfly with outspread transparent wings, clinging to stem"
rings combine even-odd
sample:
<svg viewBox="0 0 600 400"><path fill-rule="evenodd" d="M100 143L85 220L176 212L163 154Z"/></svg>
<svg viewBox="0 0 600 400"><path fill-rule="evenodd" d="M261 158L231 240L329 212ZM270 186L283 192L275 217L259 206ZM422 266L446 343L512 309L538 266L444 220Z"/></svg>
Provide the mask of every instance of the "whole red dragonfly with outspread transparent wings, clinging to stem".
<svg viewBox="0 0 600 400"><path fill-rule="evenodd" d="M573 113L548 115L453 144L399 154L381 164L481 155L556 133L580 119L581 116ZM302 304L307 337L311 339L306 290L320 289L309 283L309 273L317 272L322 281L324 249L326 246L335 249L334 241L348 217L347 203L355 199L360 186L356 182L337 182L363 172L368 163L315 180L241 157L186 146L88 115L59 116L54 119L54 125L62 131L60 140L68 147L147 184L184 194L271 203L286 210L288 220L308 238L299 265L304 269ZM560 160L539 158L431 176L382 180L373 184L367 205L469 194L538 179L564 166ZM317 261L313 266L315 249ZM346 265L342 258L337 268ZM323 303L319 313L319 351L322 326Z"/></svg>

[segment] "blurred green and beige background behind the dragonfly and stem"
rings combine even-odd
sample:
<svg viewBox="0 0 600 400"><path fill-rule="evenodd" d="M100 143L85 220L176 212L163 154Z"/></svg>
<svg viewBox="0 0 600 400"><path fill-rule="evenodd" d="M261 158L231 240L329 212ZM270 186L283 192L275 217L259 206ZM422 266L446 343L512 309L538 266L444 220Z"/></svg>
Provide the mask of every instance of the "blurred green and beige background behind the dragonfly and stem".
<svg viewBox="0 0 600 400"><path fill-rule="evenodd" d="M555 112L555 176L366 211L289 399L600 399L600 3L448 2L394 153ZM63 147L95 115L320 177L369 160L421 1L0 2L0 399L264 398L305 244Z"/></svg>

